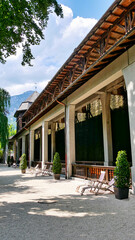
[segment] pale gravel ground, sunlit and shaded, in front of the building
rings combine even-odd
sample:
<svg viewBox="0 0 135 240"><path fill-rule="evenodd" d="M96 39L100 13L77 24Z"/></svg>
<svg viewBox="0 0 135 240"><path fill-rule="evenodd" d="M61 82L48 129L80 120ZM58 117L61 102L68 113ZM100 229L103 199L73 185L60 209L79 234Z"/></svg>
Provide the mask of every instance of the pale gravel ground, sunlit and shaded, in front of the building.
<svg viewBox="0 0 135 240"><path fill-rule="evenodd" d="M79 183L0 165L0 240L134 240L135 196L80 196Z"/></svg>

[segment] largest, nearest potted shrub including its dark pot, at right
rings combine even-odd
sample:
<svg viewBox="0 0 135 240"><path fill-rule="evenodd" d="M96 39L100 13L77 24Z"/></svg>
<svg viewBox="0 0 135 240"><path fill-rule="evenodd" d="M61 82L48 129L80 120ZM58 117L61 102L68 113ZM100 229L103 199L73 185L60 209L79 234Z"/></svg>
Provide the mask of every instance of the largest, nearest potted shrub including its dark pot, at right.
<svg viewBox="0 0 135 240"><path fill-rule="evenodd" d="M130 185L130 168L126 151L119 151L114 169L114 193L117 199L128 198Z"/></svg>

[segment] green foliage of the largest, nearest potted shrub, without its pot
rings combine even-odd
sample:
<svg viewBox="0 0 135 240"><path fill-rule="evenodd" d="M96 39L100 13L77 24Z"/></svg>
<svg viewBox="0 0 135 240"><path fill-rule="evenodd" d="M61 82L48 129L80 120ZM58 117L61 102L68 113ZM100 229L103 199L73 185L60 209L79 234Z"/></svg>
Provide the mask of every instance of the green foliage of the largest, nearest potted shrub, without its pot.
<svg viewBox="0 0 135 240"><path fill-rule="evenodd" d="M119 151L116 158L116 167L114 169L115 186L119 188L129 187L130 168L127 161L126 151Z"/></svg>

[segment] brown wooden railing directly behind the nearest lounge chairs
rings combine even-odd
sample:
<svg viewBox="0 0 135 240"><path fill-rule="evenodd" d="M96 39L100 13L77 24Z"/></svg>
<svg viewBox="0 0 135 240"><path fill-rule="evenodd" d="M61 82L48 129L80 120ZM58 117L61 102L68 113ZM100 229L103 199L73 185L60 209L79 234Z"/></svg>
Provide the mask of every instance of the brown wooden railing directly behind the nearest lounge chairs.
<svg viewBox="0 0 135 240"><path fill-rule="evenodd" d="M105 171L105 180L110 181L113 178L114 168L112 166L72 164L72 173L73 177L98 179L101 171Z"/></svg>

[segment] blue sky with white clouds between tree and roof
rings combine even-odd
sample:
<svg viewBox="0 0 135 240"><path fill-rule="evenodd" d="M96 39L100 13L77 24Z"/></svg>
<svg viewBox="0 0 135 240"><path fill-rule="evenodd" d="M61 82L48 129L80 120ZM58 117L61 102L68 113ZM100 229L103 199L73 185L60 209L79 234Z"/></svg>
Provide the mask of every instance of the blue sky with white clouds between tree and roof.
<svg viewBox="0 0 135 240"><path fill-rule="evenodd" d="M45 40L32 47L33 67L22 66L20 49L0 63L0 88L11 96L45 88L74 49L114 2L113 0L58 0L64 18L50 14Z"/></svg>

